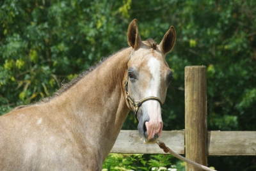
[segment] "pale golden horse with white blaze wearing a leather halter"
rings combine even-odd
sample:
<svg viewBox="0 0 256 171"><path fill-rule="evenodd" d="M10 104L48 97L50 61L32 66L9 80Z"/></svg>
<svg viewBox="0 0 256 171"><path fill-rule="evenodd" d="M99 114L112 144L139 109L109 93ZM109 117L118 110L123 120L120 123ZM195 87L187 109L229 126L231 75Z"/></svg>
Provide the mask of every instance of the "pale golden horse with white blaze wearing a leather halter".
<svg viewBox="0 0 256 171"><path fill-rule="evenodd" d="M63 85L51 97L0 117L0 170L101 170L130 110L143 142L161 135L161 106L173 73L165 56L173 26L157 43L129 24L129 47Z"/></svg>

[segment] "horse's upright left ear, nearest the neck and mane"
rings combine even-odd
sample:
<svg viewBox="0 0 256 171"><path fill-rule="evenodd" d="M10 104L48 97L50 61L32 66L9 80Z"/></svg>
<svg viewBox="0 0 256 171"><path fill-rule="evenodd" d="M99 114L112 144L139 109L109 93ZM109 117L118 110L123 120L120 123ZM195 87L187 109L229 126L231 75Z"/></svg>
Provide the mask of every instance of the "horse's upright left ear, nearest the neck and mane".
<svg viewBox="0 0 256 171"><path fill-rule="evenodd" d="M127 41L128 41L128 44L134 49L137 49L140 47L141 38L140 38L139 29L137 25L137 19L132 20L132 22L129 24L128 31L127 31Z"/></svg>

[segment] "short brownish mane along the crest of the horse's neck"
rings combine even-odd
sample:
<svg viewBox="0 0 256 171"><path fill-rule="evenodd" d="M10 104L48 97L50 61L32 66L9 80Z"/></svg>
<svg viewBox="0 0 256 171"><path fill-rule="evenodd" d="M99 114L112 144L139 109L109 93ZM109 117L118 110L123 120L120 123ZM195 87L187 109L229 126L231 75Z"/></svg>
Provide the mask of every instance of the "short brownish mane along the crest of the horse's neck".
<svg viewBox="0 0 256 171"><path fill-rule="evenodd" d="M126 48L126 47L125 47ZM115 54L121 52L122 50L124 50L125 48L122 48L121 50L118 50L117 52L111 54L108 57L102 57L100 59L99 62L95 63L93 66L90 66L90 68L88 68L88 70L83 71L82 73L80 73L79 75L77 75L76 78L72 79L70 82L66 83L66 84L61 84L60 89L58 89L58 91L56 91L55 93L52 94L52 96L49 96L47 98L43 98L40 101L36 102L36 103L32 103L30 105L20 105L19 107L15 107L13 108L13 110L17 110L20 108L24 108L24 107L29 107L31 105L36 105L36 104L40 104L40 103L47 103L49 101L51 101L53 98L56 98L58 96L60 96L61 94L63 94L65 91L67 91L68 89L70 89L70 87L72 87L73 85L75 85L79 80L81 80L82 78L84 78L86 75L88 75L88 73L92 72L93 70L95 70L97 67L99 67L102 63L104 63L107 59L109 59L109 57L114 56Z"/></svg>

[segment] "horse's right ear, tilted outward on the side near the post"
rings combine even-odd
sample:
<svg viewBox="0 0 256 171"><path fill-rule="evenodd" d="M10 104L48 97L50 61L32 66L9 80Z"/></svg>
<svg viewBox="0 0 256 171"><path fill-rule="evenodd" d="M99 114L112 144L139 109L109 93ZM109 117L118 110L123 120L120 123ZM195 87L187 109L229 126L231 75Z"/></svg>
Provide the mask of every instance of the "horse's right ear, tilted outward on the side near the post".
<svg viewBox="0 0 256 171"><path fill-rule="evenodd" d="M164 54L167 54L168 52L171 52L176 40L176 31L173 26L170 27L170 29L164 34L164 38L159 44L162 52Z"/></svg>

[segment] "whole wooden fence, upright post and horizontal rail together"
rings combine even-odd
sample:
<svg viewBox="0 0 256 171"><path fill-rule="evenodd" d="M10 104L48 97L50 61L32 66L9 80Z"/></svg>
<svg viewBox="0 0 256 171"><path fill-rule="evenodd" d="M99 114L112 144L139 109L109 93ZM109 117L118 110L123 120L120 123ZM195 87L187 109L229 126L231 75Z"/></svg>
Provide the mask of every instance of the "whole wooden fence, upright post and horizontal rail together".
<svg viewBox="0 0 256 171"><path fill-rule="evenodd" d="M256 155L256 131L207 131L205 66L185 68L185 130L163 131L159 140L178 154L207 166L207 156ZM186 140L186 142L185 142ZM116 153L164 154L157 144L143 144L138 130L121 130ZM186 164L186 170L200 170Z"/></svg>

